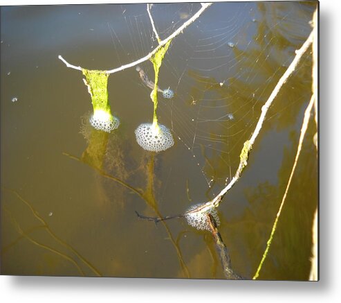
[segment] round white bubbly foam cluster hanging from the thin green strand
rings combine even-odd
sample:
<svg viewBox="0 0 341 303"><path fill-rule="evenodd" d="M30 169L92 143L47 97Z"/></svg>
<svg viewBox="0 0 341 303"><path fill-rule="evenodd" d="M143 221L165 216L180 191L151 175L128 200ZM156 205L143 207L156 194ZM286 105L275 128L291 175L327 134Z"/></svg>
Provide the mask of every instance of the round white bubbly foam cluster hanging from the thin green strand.
<svg viewBox="0 0 341 303"><path fill-rule="evenodd" d="M135 135L139 146L156 153L166 150L174 144L172 133L162 124L159 124L157 128L151 123L142 123L136 128Z"/></svg>

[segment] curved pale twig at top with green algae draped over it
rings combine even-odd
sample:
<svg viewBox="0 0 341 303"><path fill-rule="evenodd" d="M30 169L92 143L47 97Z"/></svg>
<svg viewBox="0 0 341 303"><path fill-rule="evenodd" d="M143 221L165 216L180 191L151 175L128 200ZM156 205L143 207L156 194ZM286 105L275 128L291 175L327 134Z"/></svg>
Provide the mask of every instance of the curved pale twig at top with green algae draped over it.
<svg viewBox="0 0 341 303"><path fill-rule="evenodd" d="M145 62L147 60L149 60L161 47L163 47L167 42L169 42L170 40L174 39L174 37L176 37L177 35L179 35L180 33L183 32L183 30L185 28L187 28L187 26L189 26L190 24L192 24L196 19L198 19L200 17L200 15L211 5L212 3L201 3L201 9L198 10L198 12L196 12L195 15L193 15L192 18L188 19L182 26L180 26L176 31L174 31L174 33L172 33L171 35L169 35L165 40L162 40L159 42L158 46L151 51L148 55L145 55L145 57L142 57L134 62L131 62L129 64L124 64L121 67L117 67L116 69L111 69L109 71L107 71L107 73L116 73L118 71L123 71L124 69L128 69L130 67L135 67L136 65ZM58 58L60 60L62 60L64 62L64 64L66 64L66 67L70 67L71 69L77 69L78 71L82 71L82 67L76 67L73 64L68 63L61 55L58 56Z"/></svg>

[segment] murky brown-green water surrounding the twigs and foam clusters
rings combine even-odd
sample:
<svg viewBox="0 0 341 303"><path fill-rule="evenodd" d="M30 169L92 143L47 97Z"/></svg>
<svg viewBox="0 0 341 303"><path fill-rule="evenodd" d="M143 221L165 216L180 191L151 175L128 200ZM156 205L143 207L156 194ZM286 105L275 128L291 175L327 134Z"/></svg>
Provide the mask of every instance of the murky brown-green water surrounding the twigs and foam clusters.
<svg viewBox="0 0 341 303"><path fill-rule="evenodd" d="M199 4L157 4L162 38ZM82 73L112 69L156 46L144 4L1 7L1 272L223 279L212 236L174 219L216 196L277 80L308 37L314 3L214 3L176 37L159 84L160 123L175 144L142 150L134 130L151 122L150 89L135 68L109 77L121 124L91 130ZM153 78L150 62L140 66ZM241 180L218 212L232 268L252 278L288 182L306 105L311 56L270 107ZM86 118L86 116L88 118ZM260 279L308 279L317 206L311 119L297 171Z"/></svg>

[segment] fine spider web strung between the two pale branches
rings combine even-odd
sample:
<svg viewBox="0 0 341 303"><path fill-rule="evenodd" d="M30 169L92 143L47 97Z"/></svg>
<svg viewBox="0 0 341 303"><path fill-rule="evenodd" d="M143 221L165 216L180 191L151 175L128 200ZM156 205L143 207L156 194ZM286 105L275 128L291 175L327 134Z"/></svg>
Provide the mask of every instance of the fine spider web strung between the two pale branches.
<svg viewBox="0 0 341 303"><path fill-rule="evenodd" d="M304 10L299 10L302 6ZM161 40L200 7L200 3L152 5ZM115 24L120 22L127 35L120 35L115 24L107 24L116 66L137 60L158 45L146 5L120 6L120 10ZM267 14L269 10L273 13ZM187 151L213 194L234 175L243 142L250 138L261 106L310 32L307 11L309 4L300 2L288 8L281 3L213 3L167 51L159 86L170 87L175 96L160 98L159 122L171 128L178 143L174 148ZM293 35L290 24L302 28L302 36ZM153 80L151 63L140 66ZM127 81L132 87L143 87L137 72ZM150 89L142 89L147 99ZM305 100L306 96L297 96L273 116Z"/></svg>

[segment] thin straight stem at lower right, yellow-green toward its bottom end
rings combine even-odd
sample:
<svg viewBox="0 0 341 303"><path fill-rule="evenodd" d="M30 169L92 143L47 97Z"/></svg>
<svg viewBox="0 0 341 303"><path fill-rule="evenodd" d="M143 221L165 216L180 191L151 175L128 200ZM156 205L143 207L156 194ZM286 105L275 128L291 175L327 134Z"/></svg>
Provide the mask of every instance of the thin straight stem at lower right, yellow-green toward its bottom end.
<svg viewBox="0 0 341 303"><path fill-rule="evenodd" d="M279 209L277 211L275 222L273 223L273 229L271 230L269 239L266 242L266 249L265 249L265 251L263 253L263 257L261 258L261 261L260 261L259 266L257 268L257 271L255 273L255 276L252 277L253 280L255 280L255 279L257 279L259 277L259 272L261 271L263 263L264 263L266 257L268 256L268 251L270 249L270 245L273 242L273 235L275 234L275 231L276 231L276 228L277 228L277 223L278 223L278 220L279 220L279 216L281 215L281 212L282 212L282 209L283 209L283 206L284 206L284 201L286 200L286 195L288 194L288 189L289 189L289 187L291 185L291 180L293 179L293 174L295 173L298 157L299 157L299 154L301 153L302 142L303 142L303 139L304 139L304 135L306 134L306 129L308 128L308 123L309 123L309 119L310 119L310 115L311 115L311 109L313 107L314 101L315 101L315 97L313 95L313 96L311 96L311 101L309 102L308 106L306 107L306 111L304 112L304 119L303 119L302 128L301 128L301 135L299 136L296 157L295 157L295 161L294 161L294 164L293 164L293 168L291 169L291 174L290 174L290 177L289 177L289 180L288 180L288 184L286 184L286 190L284 192L284 195L283 195L283 198L282 198L282 202L279 205Z"/></svg>

